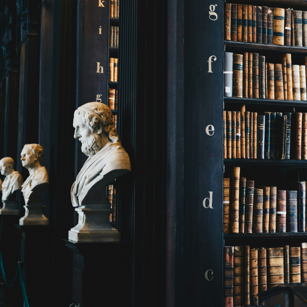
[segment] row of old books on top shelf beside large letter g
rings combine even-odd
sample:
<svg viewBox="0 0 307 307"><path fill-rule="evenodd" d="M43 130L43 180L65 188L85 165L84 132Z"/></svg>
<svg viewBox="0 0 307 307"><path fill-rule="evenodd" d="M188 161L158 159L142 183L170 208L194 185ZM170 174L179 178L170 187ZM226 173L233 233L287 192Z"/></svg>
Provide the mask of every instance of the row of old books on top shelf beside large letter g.
<svg viewBox="0 0 307 307"><path fill-rule="evenodd" d="M307 46L307 11L225 3L224 39Z"/></svg>

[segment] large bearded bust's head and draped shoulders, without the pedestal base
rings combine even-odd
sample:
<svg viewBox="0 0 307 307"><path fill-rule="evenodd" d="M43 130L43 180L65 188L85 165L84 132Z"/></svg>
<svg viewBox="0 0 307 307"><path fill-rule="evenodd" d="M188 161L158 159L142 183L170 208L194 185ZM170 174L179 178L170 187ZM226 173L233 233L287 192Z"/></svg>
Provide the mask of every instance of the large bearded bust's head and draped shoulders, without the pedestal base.
<svg viewBox="0 0 307 307"><path fill-rule="evenodd" d="M112 117L109 107L99 102L86 103L75 111L74 138L79 139L82 152L89 158L72 185L74 207L104 202L102 191L107 184L131 171Z"/></svg>

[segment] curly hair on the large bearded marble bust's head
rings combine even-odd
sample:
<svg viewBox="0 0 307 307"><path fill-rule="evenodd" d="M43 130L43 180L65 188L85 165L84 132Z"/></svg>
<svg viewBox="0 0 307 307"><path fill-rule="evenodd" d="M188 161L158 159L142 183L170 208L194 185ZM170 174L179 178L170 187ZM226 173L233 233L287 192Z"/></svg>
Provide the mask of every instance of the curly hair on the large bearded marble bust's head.
<svg viewBox="0 0 307 307"><path fill-rule="evenodd" d="M85 103L82 107L86 107L97 113L102 118L101 122L103 124L103 131L109 134L109 139L113 143L120 142L117 131L114 127L112 112L107 105L101 102L89 102ZM85 123L87 126L89 126L91 132L93 133L99 122L98 117L83 110L76 110L74 116L76 115L83 116Z"/></svg>

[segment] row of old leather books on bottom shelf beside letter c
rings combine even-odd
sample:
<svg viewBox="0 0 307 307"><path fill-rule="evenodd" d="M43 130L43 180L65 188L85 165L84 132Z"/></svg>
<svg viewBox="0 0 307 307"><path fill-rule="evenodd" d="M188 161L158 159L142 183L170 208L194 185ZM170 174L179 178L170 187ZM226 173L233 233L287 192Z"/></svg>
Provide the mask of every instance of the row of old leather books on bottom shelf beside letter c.
<svg viewBox="0 0 307 307"><path fill-rule="evenodd" d="M300 247L224 247L224 307L264 305L258 293L307 282L307 243Z"/></svg>

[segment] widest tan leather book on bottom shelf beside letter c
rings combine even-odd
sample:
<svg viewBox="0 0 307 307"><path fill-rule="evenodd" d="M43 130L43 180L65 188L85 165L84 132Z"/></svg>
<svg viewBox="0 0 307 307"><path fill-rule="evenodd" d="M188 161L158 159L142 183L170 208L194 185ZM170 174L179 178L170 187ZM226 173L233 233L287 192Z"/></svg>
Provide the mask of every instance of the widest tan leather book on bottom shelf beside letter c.
<svg viewBox="0 0 307 307"><path fill-rule="evenodd" d="M266 249L266 274L268 290L284 283L283 247Z"/></svg>

